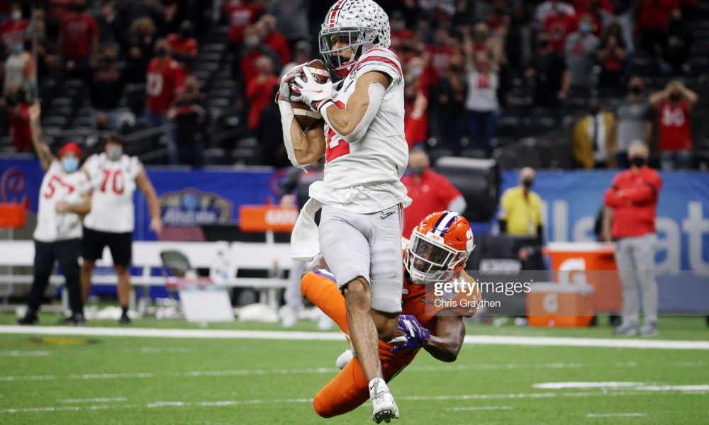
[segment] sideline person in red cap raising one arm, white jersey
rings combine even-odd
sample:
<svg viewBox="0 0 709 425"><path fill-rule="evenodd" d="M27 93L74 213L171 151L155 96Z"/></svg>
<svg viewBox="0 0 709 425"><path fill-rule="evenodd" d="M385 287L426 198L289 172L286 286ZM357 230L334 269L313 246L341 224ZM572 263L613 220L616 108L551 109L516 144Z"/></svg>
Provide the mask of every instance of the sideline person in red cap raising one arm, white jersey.
<svg viewBox="0 0 709 425"><path fill-rule="evenodd" d="M45 171L40 187L37 227L34 233L34 278L27 312L17 324L37 324L54 263L59 263L69 293L72 315L64 322L84 324L84 306L79 286L79 255L82 251L82 217L91 210L91 183L79 171L82 149L69 142L55 157L43 141L40 128L40 106L29 109L32 142Z"/></svg>

